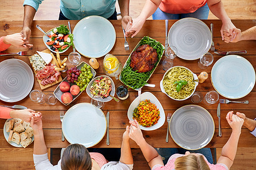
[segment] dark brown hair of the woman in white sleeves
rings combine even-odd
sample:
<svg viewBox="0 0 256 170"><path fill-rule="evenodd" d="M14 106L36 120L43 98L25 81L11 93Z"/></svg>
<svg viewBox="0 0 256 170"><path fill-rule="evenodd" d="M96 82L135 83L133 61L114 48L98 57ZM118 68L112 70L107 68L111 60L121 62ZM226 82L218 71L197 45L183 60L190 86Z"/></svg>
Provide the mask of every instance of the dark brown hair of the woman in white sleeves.
<svg viewBox="0 0 256 170"><path fill-rule="evenodd" d="M84 145L72 144L65 148L61 158L63 170L91 170L92 159Z"/></svg>

